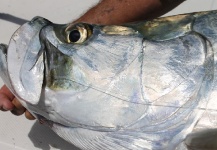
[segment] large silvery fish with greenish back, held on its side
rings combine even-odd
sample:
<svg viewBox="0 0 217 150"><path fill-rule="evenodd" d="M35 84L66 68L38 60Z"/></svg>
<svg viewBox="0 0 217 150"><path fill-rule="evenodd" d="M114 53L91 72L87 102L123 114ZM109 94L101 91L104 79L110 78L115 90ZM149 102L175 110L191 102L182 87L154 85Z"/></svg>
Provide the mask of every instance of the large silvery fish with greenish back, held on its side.
<svg viewBox="0 0 217 150"><path fill-rule="evenodd" d="M1 77L80 149L211 149L216 28L217 11L119 26L36 17L0 46Z"/></svg>

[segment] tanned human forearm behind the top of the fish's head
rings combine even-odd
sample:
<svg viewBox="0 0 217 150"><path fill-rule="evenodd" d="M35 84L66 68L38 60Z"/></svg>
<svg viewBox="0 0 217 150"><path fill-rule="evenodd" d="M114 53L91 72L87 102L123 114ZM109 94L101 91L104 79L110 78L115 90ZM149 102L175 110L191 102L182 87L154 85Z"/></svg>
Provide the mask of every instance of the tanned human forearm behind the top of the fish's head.
<svg viewBox="0 0 217 150"><path fill-rule="evenodd" d="M121 24L159 17L184 0L102 0L75 22Z"/></svg>

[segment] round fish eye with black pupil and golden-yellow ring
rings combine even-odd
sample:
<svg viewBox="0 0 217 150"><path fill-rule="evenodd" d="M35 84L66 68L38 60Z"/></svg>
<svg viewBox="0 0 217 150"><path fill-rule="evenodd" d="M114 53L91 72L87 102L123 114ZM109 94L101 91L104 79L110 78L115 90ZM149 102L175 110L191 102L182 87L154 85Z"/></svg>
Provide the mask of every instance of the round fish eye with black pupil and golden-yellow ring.
<svg viewBox="0 0 217 150"><path fill-rule="evenodd" d="M77 24L66 29L67 43L81 44L85 42L92 34L92 30L88 25Z"/></svg>

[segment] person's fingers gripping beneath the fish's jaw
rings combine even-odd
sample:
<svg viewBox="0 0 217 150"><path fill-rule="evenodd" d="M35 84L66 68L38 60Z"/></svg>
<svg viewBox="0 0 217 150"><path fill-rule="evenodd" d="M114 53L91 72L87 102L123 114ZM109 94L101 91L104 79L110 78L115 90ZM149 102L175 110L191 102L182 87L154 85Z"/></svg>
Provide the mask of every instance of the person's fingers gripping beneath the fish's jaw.
<svg viewBox="0 0 217 150"><path fill-rule="evenodd" d="M0 89L0 110L11 111L17 116L25 113L27 119L35 119L35 117L21 105L21 103L5 85Z"/></svg>

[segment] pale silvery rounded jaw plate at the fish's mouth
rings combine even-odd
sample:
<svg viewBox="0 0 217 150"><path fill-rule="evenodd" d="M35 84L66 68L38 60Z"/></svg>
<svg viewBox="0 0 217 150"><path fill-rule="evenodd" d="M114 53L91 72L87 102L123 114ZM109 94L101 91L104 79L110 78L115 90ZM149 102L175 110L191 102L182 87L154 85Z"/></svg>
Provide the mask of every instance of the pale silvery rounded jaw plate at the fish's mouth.
<svg viewBox="0 0 217 150"><path fill-rule="evenodd" d="M41 95L44 63L39 33L49 23L33 18L13 34L8 47L8 74L14 94L31 104L37 104Z"/></svg>

